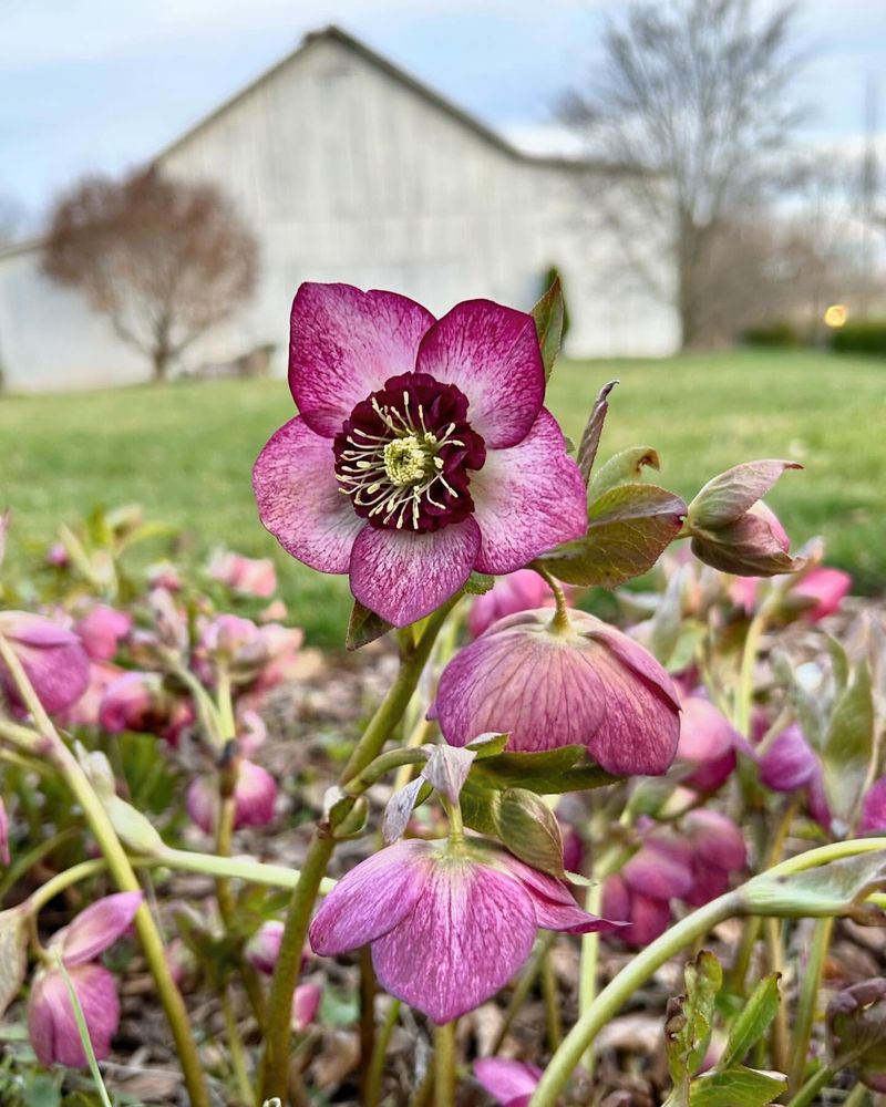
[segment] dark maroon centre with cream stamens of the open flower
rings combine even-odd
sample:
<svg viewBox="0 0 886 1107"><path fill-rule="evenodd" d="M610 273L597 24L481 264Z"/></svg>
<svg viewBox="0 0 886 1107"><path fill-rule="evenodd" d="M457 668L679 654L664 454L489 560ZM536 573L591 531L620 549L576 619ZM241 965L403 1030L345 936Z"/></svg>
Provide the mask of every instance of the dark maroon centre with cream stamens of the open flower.
<svg viewBox="0 0 886 1107"><path fill-rule="evenodd" d="M424 534L474 510L470 469L486 461L467 397L427 373L403 373L362 400L333 443L339 489L373 527Z"/></svg>

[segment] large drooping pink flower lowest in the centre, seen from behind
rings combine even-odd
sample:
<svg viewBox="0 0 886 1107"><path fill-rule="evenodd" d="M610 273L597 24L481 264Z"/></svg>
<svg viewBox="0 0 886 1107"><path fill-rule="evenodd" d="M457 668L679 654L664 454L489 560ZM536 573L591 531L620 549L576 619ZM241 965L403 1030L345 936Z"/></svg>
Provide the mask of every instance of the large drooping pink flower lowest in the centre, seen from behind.
<svg viewBox="0 0 886 1107"><path fill-rule="evenodd" d="M443 1024L511 980L538 927L588 933L615 924L583 911L565 881L504 850L474 839L460 851L409 839L351 869L309 937L322 956L369 943L384 987Z"/></svg>

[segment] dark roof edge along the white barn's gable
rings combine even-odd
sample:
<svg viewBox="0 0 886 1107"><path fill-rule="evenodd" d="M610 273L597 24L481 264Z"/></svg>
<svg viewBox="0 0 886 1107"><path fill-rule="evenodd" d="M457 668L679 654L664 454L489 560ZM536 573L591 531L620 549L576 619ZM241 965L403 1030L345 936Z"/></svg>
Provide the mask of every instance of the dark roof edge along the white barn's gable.
<svg viewBox="0 0 886 1107"><path fill-rule="evenodd" d="M514 158L518 162L527 162L532 165L547 166L552 168L563 168L563 169L588 169L588 168L614 168L612 166L605 166L598 162L589 162L581 158L575 157L557 157L544 154L532 154L527 151L521 149L513 143L508 142L503 135L498 134L497 131L493 131L492 127L486 126L476 116L471 115L470 112L465 112L464 108L459 107L451 100L442 96L439 92L435 92L429 85L419 81L418 77L412 76L405 70L402 70L399 65L394 65L393 62L389 61L387 58L377 53L360 39L356 39L352 34L348 34L347 31L342 31L340 27L330 24L329 27L322 28L318 31L310 31L303 37L300 44L286 58L281 59L270 69L266 70L260 76L256 77L255 81L250 82L245 89L236 93L229 100L226 100L223 104L210 112L208 115L204 116L198 123L189 127L183 135L169 143L168 146L164 147L153 159L152 164L156 165L162 162L168 154L172 154L185 143L187 143L194 135L198 134L204 127L207 127L210 123L217 120L219 116L224 115L225 112L229 111L235 104L238 104L241 100L249 95L255 89L260 87L262 84L272 81L274 77L286 66L288 66L292 61L303 54L306 51L310 50L315 43L318 42L337 42L342 46L346 46L352 53L368 61L371 65L380 69L388 76L393 77L394 81L404 85L412 93L420 96L422 100L426 101L429 104L437 108L437 111L445 112L451 118L455 120L463 127L473 131L475 135L483 138L491 146L496 147L503 154L508 157Z"/></svg>

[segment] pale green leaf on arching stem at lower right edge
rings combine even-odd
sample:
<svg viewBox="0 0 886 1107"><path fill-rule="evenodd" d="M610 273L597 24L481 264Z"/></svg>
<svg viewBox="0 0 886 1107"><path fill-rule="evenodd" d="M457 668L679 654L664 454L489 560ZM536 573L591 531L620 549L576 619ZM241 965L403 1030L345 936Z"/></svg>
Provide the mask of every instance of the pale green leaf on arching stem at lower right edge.
<svg viewBox="0 0 886 1107"><path fill-rule="evenodd" d="M883 924L884 912L865 903L886 888L886 850L846 857L803 872L761 872L738 891L750 914L784 919L849 915L862 923Z"/></svg>

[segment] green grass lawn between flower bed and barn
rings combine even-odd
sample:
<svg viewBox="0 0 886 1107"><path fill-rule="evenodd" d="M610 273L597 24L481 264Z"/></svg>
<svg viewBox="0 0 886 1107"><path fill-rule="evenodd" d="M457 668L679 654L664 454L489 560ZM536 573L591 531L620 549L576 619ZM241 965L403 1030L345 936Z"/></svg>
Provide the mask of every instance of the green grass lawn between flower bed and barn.
<svg viewBox="0 0 886 1107"><path fill-rule="evenodd" d="M786 474L770 497L794 542L822 534L828 561L855 575L856 590L886 588L886 363L750 351L564 363L548 402L574 439L612 377L621 384L601 458L653 446L662 463L655 479L687 497L736 462L800 461L805 472ZM347 581L282 554L253 500L253 461L292 414L284 381L2 397L0 506L14 510L13 551L42 550L61 521L95 504L137 501L184 528L194 558L215 545L271 555L293 620L317 644L339 643Z"/></svg>

